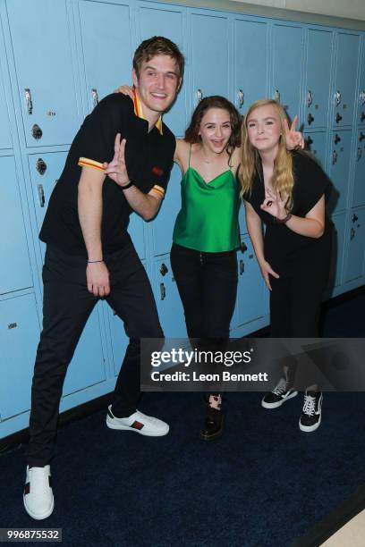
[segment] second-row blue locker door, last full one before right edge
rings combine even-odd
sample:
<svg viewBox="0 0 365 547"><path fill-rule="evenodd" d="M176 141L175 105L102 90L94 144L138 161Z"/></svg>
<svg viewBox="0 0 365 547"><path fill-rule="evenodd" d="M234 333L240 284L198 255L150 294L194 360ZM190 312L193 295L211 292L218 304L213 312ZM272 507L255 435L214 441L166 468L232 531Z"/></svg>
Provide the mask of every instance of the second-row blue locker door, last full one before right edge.
<svg viewBox="0 0 365 547"><path fill-rule="evenodd" d="M347 204L351 158L351 131L338 130L331 134L329 148L331 165L329 177L334 183L334 191L329 199L331 213L341 211Z"/></svg>

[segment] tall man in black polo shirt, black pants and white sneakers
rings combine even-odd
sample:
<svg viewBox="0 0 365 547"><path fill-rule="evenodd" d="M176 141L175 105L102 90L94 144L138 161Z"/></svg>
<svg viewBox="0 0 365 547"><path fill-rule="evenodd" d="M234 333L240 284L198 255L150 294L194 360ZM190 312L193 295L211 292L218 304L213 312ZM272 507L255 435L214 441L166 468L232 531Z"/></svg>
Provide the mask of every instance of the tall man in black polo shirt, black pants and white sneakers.
<svg viewBox="0 0 365 547"><path fill-rule="evenodd" d="M170 40L150 38L136 50L132 74L133 100L110 95L83 122L39 234L47 243L43 331L31 390L23 496L25 509L36 519L47 518L54 509L49 464L64 376L99 298L114 308L130 337L106 425L150 436L165 435L169 429L136 408L140 338L159 338L163 332L149 279L127 227L132 211L145 220L153 218L165 193L175 139L161 114L173 103L181 84L183 55ZM120 138L126 139L122 179L112 173ZM110 176L105 173L107 164Z"/></svg>

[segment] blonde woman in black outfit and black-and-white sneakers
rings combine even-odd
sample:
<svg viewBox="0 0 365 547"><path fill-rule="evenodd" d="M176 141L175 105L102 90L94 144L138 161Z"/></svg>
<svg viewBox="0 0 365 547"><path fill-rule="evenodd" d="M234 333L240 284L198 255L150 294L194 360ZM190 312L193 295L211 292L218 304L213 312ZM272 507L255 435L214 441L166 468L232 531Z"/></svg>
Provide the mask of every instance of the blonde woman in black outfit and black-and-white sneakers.
<svg viewBox="0 0 365 547"><path fill-rule="evenodd" d="M331 250L325 213L329 181L308 154L286 149L286 119L274 100L250 106L242 123L239 178L250 239L270 290L271 336L317 337ZM264 408L277 408L297 394L289 375L286 370L275 390L265 395ZM318 428L322 399L316 386L305 392L301 431Z"/></svg>

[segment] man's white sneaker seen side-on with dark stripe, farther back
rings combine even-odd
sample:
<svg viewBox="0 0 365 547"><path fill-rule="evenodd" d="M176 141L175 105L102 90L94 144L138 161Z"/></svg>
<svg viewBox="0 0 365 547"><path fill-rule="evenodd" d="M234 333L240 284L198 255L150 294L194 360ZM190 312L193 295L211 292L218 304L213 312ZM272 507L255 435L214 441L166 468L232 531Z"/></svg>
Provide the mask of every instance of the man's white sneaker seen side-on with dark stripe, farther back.
<svg viewBox="0 0 365 547"><path fill-rule="evenodd" d="M110 429L135 431L136 433L148 435L149 437L162 437L163 435L166 435L170 429L162 420L146 416L139 410L133 412L130 417L115 417L112 412L112 405L107 408L106 425L110 427Z"/></svg>

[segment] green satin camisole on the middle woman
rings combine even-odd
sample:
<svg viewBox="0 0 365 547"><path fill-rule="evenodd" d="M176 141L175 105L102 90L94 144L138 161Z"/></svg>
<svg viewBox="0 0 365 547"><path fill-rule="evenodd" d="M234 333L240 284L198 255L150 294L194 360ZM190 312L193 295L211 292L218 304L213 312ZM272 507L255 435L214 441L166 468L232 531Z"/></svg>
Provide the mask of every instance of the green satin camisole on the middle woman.
<svg viewBox="0 0 365 547"><path fill-rule="evenodd" d="M240 246L240 189L231 169L210 182L190 164L182 180L182 208L174 225L174 243L216 253Z"/></svg>

